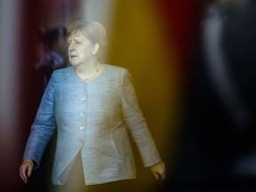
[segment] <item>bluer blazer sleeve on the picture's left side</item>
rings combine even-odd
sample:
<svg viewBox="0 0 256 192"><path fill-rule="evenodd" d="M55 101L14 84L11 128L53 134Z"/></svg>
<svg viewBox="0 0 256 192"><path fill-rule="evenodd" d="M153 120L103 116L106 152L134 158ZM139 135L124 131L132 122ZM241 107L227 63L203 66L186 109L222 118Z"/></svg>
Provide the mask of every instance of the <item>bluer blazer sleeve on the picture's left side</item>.
<svg viewBox="0 0 256 192"><path fill-rule="evenodd" d="M54 116L54 73L44 91L44 95L40 102L36 113L36 118L31 126L28 136L27 145L23 155L23 159L32 159L36 164L34 168L38 168L44 149L55 131Z"/></svg>

